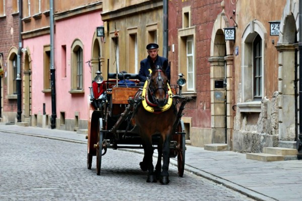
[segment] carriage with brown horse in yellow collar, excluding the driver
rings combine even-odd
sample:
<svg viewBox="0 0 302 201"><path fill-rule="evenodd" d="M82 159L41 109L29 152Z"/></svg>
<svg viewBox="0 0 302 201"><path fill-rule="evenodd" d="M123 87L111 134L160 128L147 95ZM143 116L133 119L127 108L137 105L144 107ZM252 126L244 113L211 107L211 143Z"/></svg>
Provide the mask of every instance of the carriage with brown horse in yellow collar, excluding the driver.
<svg viewBox="0 0 302 201"><path fill-rule="evenodd" d="M88 169L92 168L96 156L96 170L100 175L102 156L108 148L144 149L140 167L148 170L147 182L160 179L163 184L169 183L170 157L177 157L178 174L183 176L186 148L181 116L190 99L181 96L185 84L182 76L177 85L169 85L166 65L152 66L143 87L137 86L137 74L108 73L104 81L101 72L97 72L88 100ZM132 80L134 86L127 82L121 86L119 81L125 79ZM155 171L154 149L159 153Z"/></svg>

